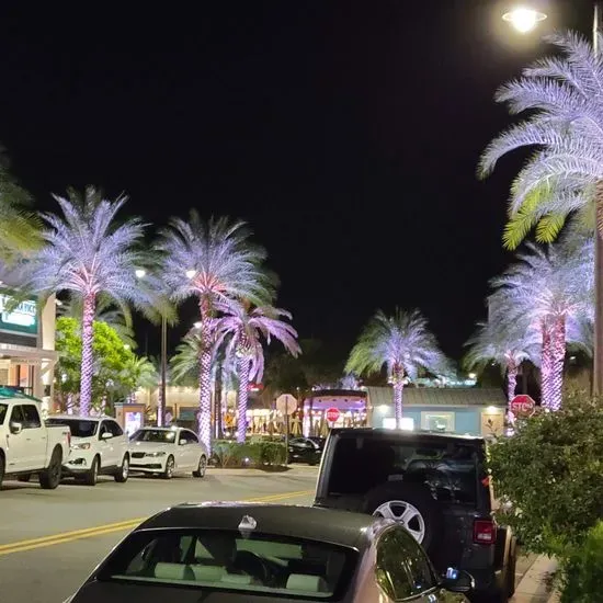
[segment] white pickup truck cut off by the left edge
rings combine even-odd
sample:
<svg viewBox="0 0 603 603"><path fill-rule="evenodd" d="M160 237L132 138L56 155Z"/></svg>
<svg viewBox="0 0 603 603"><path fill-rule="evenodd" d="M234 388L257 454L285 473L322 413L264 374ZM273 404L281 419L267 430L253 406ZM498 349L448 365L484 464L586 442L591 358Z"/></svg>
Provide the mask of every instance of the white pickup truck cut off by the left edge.
<svg viewBox="0 0 603 603"><path fill-rule="evenodd" d="M0 392L0 486L8 476L29 481L37 474L42 488L54 490L70 444L68 426L44 423L38 400Z"/></svg>

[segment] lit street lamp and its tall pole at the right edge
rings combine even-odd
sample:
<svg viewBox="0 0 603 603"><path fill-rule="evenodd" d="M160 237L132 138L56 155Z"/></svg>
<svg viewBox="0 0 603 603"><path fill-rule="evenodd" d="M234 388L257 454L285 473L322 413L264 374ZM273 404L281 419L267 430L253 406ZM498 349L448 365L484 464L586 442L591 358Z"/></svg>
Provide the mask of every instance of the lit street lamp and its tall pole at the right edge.
<svg viewBox="0 0 603 603"><path fill-rule="evenodd" d="M502 15L502 19L521 33L532 31L546 19L546 14L534 9L516 8ZM599 34L602 31L603 2L593 2L592 47L598 56ZM596 226L594 229L594 354L592 367L592 395L603 394L603 236L600 223L603 217L603 184L596 186Z"/></svg>

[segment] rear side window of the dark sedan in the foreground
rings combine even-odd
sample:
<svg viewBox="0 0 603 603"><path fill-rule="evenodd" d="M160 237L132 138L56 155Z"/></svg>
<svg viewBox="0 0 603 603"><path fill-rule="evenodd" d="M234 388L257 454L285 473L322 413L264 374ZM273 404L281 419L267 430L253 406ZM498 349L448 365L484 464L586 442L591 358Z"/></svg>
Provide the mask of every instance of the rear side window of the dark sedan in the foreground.
<svg viewBox="0 0 603 603"><path fill-rule="evenodd" d="M388 530L377 543L375 578L383 591L396 601L416 594L408 571L408 549L398 530Z"/></svg>

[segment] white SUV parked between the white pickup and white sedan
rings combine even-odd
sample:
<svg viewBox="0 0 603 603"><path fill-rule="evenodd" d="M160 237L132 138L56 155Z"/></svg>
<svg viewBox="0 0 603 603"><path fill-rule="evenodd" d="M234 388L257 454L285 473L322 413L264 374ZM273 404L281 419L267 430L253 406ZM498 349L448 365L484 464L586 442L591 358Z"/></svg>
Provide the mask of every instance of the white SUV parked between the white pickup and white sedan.
<svg viewBox="0 0 603 603"><path fill-rule="evenodd" d="M111 475L125 483L129 476L128 437L111 417L53 414L49 425L67 425L71 431L71 450L62 462L62 476L75 477L95 486L99 475Z"/></svg>

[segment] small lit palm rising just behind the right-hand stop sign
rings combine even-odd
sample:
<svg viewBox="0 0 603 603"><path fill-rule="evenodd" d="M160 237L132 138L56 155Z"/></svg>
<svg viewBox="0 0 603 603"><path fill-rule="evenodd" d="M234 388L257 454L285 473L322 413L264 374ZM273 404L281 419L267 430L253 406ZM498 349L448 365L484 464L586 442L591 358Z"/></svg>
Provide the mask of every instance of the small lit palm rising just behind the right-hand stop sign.
<svg viewBox="0 0 603 603"><path fill-rule="evenodd" d="M467 342L469 349L464 364L469 371L498 364L503 376L507 375L507 400L511 403L522 363L528 360L539 364L541 341L535 330L517 328L516 322L508 320L509 314L490 316L487 323L478 325L477 332Z"/></svg>

